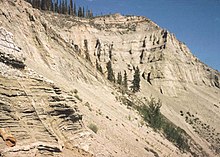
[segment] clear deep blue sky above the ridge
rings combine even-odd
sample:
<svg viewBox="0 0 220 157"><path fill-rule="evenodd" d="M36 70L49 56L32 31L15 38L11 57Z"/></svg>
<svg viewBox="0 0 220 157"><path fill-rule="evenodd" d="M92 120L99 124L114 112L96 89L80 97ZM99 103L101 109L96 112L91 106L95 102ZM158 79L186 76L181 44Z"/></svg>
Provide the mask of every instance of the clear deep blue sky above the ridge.
<svg viewBox="0 0 220 157"><path fill-rule="evenodd" d="M145 16L174 33L202 62L220 71L220 0L75 0L94 15Z"/></svg>

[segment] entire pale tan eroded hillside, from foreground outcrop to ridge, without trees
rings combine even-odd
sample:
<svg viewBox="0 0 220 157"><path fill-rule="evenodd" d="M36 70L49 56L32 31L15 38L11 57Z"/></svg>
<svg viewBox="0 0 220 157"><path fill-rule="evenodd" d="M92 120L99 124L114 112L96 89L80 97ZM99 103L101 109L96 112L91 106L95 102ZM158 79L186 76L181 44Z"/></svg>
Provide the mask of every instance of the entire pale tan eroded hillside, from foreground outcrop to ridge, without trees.
<svg viewBox="0 0 220 157"><path fill-rule="evenodd" d="M140 91L108 81L109 61L129 87L138 67ZM16 139L8 147L0 138L0 156L220 156L219 78L148 18L87 19L0 0L0 131ZM123 101L150 97L185 131L189 151Z"/></svg>

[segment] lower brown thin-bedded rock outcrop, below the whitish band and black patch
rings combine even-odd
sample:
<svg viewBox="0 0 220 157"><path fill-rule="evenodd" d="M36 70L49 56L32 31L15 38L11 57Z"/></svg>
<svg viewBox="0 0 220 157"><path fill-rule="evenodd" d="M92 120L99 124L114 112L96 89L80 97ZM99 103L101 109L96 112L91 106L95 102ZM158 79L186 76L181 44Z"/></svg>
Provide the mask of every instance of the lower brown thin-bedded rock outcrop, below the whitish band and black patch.
<svg viewBox="0 0 220 157"><path fill-rule="evenodd" d="M6 148L2 155L18 150L17 156L27 151L29 154L61 152L62 140L70 139L74 131L82 129L82 116L74 107L75 99L58 93L52 84L28 77L1 75L0 80L0 126L10 128L17 140L16 147Z"/></svg>

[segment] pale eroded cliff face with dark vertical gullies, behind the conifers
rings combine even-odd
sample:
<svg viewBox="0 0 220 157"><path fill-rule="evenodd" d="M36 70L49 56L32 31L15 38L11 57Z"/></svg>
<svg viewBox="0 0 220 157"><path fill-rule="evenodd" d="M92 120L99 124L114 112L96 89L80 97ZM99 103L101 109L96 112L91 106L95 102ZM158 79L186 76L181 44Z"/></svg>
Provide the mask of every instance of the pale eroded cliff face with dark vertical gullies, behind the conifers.
<svg viewBox="0 0 220 157"><path fill-rule="evenodd" d="M53 18L60 36L85 58L106 70L111 60L115 75L139 67L144 81L169 96L177 96L187 84L219 88L219 73L199 61L175 36L144 17L111 16L91 20ZM88 54L87 54L88 53ZM89 55L89 57L88 57ZM143 87L144 88L144 87Z"/></svg>

